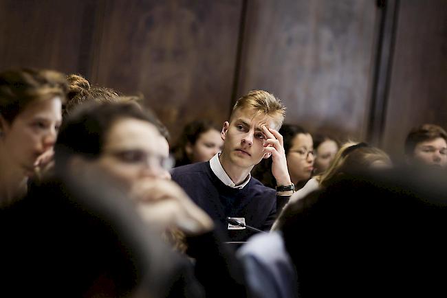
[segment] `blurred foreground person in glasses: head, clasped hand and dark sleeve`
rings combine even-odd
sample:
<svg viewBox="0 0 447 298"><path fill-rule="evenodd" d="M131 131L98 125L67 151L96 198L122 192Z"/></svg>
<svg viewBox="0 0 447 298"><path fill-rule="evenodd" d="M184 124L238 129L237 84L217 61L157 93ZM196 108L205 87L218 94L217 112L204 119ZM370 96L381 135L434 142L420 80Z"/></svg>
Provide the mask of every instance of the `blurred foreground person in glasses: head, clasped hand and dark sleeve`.
<svg viewBox="0 0 447 298"><path fill-rule="evenodd" d="M190 266L208 297L243 297L238 263L219 236L212 235L212 220L169 180L168 143L158 123L155 115L135 104L82 106L61 128L57 172L91 180L107 176L110 185L133 200L151 229L195 257L195 266Z"/></svg>

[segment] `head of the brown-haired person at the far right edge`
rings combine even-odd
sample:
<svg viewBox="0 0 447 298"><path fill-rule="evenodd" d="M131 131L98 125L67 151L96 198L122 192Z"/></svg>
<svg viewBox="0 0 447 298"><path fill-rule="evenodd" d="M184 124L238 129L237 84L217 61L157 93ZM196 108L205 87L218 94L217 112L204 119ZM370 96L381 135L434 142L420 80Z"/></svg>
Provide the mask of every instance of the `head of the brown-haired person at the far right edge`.
<svg viewBox="0 0 447 298"><path fill-rule="evenodd" d="M405 155L409 165L447 166L447 133L435 124L413 128L405 140Z"/></svg>

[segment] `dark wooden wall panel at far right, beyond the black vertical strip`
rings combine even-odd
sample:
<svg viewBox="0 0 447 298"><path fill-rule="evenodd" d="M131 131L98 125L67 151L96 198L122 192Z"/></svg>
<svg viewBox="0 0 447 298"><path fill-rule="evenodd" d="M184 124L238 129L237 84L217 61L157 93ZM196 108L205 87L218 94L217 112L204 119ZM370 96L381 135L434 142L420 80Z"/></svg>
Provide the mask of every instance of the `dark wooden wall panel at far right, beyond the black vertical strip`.
<svg viewBox="0 0 447 298"><path fill-rule="evenodd" d="M401 161L416 125L447 128L447 1L400 1L382 144Z"/></svg>

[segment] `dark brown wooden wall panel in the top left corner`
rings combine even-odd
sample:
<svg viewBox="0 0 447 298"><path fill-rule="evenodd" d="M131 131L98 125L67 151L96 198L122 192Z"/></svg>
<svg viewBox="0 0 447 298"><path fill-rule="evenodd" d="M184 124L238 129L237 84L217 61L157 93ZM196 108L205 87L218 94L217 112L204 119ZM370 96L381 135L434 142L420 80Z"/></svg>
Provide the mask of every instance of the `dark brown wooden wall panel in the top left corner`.
<svg viewBox="0 0 447 298"><path fill-rule="evenodd" d="M85 1L0 1L0 69L77 72Z"/></svg>

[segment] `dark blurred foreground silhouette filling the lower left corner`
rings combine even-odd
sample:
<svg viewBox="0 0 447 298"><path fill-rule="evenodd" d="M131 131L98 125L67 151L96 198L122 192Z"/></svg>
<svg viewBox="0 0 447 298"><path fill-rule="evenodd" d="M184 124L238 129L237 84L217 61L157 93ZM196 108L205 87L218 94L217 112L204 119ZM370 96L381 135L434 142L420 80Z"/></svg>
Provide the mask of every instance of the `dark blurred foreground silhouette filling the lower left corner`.
<svg viewBox="0 0 447 298"><path fill-rule="evenodd" d="M34 185L0 223L2 297L204 297L99 168Z"/></svg>

